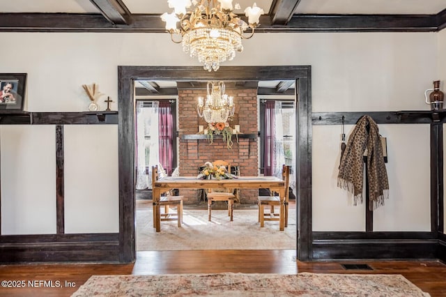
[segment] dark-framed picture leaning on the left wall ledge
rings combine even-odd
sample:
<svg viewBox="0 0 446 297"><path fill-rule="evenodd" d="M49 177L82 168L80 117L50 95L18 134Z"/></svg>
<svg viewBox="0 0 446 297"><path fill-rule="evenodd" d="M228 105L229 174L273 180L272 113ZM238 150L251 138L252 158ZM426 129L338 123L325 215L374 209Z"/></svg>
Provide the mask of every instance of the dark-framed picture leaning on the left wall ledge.
<svg viewBox="0 0 446 297"><path fill-rule="evenodd" d="M0 73L0 113L22 112L26 73Z"/></svg>

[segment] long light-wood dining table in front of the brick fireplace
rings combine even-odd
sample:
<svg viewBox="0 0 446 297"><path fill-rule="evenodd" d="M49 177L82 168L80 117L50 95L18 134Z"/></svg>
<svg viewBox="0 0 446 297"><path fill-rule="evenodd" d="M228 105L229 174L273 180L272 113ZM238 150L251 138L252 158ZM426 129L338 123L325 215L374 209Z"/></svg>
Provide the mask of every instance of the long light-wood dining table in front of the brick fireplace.
<svg viewBox="0 0 446 297"><path fill-rule="evenodd" d="M284 231L284 201L285 201L285 181L275 176L244 176L233 179L197 179L192 176L171 177L167 176L155 181L152 189L153 203L155 204L155 228L161 231L161 209L160 197L162 192L172 189L190 188L190 189L209 189L209 188L233 188L233 189L270 189L279 193L280 212L279 212L279 230Z"/></svg>

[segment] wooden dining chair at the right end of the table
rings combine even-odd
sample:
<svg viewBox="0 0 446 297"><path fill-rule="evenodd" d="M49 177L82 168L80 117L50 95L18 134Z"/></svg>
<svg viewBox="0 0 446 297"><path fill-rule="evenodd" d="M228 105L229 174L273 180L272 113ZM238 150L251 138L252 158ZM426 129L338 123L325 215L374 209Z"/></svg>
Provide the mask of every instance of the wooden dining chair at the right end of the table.
<svg viewBox="0 0 446 297"><path fill-rule="evenodd" d="M284 200L284 227L288 227L288 208L289 208L289 184L290 184L290 167L283 165L282 178L285 181L285 200ZM278 221L280 220L280 213L275 213L275 206L280 206L280 197L274 196L274 192L271 192L270 196L259 196L259 222L260 227L265 226L265 221ZM265 206L270 206L269 213L265 213Z"/></svg>

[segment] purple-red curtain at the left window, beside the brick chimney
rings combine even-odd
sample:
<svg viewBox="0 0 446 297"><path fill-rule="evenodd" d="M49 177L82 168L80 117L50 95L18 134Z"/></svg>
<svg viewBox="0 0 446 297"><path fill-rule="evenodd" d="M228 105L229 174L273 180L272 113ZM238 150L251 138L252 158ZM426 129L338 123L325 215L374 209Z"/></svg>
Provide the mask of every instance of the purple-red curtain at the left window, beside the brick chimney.
<svg viewBox="0 0 446 297"><path fill-rule="evenodd" d="M168 100L160 100L158 109L158 132L160 137L160 163L166 170L167 175L171 175L173 166L173 133L174 121L172 119L172 110Z"/></svg>

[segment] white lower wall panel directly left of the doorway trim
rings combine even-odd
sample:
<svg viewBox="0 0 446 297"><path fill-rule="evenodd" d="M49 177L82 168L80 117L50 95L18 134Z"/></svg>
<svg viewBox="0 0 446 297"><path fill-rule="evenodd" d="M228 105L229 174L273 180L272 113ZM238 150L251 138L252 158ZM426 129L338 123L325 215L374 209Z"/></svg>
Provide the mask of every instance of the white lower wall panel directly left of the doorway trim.
<svg viewBox="0 0 446 297"><path fill-rule="evenodd" d="M66 125L63 139L65 232L118 232L118 126Z"/></svg>

